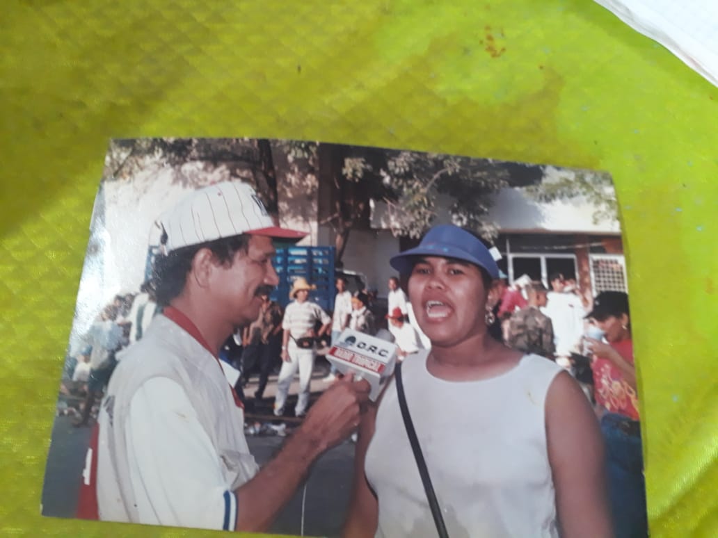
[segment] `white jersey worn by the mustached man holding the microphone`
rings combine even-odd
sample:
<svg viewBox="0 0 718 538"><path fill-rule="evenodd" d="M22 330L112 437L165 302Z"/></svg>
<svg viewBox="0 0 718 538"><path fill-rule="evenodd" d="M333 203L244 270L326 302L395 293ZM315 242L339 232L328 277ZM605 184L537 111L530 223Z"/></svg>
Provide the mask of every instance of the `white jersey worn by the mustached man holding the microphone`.
<svg viewBox="0 0 718 538"><path fill-rule="evenodd" d="M100 519L233 530L258 466L231 367L164 316L126 353L98 416Z"/></svg>

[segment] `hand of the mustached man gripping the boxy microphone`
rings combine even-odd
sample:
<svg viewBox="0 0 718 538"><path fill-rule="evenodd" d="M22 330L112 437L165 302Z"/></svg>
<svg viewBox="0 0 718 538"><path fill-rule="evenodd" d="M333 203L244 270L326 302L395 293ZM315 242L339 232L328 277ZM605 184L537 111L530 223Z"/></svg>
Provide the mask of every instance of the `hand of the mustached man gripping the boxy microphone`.
<svg viewBox="0 0 718 538"><path fill-rule="evenodd" d="M300 430L312 436L321 451L340 443L359 425L370 390L371 386L365 379L355 382L354 374L345 375L312 405Z"/></svg>

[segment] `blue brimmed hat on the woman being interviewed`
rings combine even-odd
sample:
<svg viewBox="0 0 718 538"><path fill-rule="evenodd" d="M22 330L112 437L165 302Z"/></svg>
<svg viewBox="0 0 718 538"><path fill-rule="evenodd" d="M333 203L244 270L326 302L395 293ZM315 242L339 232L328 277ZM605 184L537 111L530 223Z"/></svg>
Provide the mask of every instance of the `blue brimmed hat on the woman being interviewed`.
<svg viewBox="0 0 718 538"><path fill-rule="evenodd" d="M389 265L400 274L411 273L416 256L456 258L485 269L491 278L498 278L498 265L480 239L454 225L438 225L426 232L418 247L393 256Z"/></svg>

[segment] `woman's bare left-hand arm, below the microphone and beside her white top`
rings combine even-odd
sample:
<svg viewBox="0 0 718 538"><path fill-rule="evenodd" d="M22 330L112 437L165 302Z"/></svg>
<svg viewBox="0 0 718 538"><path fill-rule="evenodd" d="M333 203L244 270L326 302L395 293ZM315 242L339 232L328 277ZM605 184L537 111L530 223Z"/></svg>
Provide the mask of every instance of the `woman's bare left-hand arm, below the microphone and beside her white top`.
<svg viewBox="0 0 718 538"><path fill-rule="evenodd" d="M359 425L359 438L354 456L354 486L344 529L342 529L342 537L345 538L373 537L378 525L379 505L364 474L366 450L374 435L377 408L377 405L373 403L370 403L369 406Z"/></svg>

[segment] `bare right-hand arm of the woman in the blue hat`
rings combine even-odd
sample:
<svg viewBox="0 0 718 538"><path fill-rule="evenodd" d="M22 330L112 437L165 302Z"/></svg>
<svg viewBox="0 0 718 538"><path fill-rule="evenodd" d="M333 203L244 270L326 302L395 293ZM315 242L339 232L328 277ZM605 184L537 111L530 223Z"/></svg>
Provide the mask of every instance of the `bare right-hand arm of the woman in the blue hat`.
<svg viewBox="0 0 718 538"><path fill-rule="evenodd" d="M546 437L563 538L612 537L604 440L577 382L561 372L546 397Z"/></svg>

